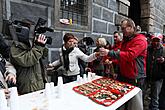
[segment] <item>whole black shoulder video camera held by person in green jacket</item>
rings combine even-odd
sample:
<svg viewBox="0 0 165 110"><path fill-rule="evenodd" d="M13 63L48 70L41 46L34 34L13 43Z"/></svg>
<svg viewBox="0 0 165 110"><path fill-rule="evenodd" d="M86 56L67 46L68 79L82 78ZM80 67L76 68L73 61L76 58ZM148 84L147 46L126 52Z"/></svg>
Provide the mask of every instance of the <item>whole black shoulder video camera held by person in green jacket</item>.
<svg viewBox="0 0 165 110"><path fill-rule="evenodd" d="M45 34L48 32L54 32L53 29L46 27L47 20L44 20L42 18L39 18L37 21L37 24L34 28L34 36L38 37L39 34ZM11 30L11 26L13 29ZM29 22L25 21L11 21L11 20L3 20L3 28L2 28L2 34L5 35L6 39L9 40L18 40L20 42L23 42L25 44L29 45L29 34L30 34L30 28L31 24ZM13 34L14 33L14 34ZM16 38L15 38L16 37ZM52 38L50 36L46 36L47 42L46 44L52 43Z"/></svg>

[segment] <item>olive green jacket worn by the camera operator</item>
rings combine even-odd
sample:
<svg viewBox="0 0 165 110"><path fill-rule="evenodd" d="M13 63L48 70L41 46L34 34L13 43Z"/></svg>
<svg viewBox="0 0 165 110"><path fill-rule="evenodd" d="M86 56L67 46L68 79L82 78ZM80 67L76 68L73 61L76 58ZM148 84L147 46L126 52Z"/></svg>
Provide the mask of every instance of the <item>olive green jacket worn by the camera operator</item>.
<svg viewBox="0 0 165 110"><path fill-rule="evenodd" d="M10 60L17 71L19 94L25 94L44 88L44 67L40 60L45 47L34 45L30 48L24 43L14 41L10 49Z"/></svg>

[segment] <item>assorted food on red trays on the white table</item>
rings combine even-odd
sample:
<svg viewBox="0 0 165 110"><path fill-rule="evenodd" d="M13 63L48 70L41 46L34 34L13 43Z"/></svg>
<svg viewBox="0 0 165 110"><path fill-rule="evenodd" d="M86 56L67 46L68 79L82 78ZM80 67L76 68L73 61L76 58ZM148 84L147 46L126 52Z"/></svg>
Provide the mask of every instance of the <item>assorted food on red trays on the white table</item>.
<svg viewBox="0 0 165 110"><path fill-rule="evenodd" d="M135 86L122 83L111 78L100 78L73 88L74 91L86 95L93 101L109 106Z"/></svg>

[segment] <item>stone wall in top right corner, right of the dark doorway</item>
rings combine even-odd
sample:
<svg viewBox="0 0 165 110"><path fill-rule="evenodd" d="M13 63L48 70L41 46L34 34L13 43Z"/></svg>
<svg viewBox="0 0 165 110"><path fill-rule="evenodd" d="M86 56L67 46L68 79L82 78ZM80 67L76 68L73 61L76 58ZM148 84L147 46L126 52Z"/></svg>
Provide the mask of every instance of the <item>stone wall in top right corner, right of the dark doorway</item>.
<svg viewBox="0 0 165 110"><path fill-rule="evenodd" d="M141 0L141 26L147 32L163 33L165 25L164 0Z"/></svg>

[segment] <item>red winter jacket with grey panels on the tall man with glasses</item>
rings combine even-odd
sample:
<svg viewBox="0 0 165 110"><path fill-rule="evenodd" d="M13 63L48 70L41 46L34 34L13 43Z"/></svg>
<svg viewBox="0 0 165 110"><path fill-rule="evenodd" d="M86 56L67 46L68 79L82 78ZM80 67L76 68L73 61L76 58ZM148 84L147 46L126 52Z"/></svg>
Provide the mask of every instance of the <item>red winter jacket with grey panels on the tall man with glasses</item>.
<svg viewBox="0 0 165 110"><path fill-rule="evenodd" d="M121 75L129 78L146 76L147 40L144 35L137 34L133 39L123 42L119 53Z"/></svg>

